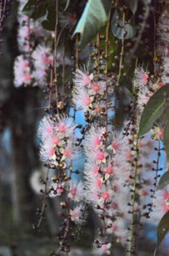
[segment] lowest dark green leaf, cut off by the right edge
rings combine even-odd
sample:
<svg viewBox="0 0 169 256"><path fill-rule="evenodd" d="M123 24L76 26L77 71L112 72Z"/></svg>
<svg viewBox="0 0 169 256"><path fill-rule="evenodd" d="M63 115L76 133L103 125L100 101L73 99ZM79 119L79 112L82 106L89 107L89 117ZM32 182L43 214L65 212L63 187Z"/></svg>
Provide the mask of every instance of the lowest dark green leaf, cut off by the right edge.
<svg viewBox="0 0 169 256"><path fill-rule="evenodd" d="M161 218L160 223L157 227L157 247L160 246L161 241L165 238L166 234L169 233L169 211Z"/></svg>

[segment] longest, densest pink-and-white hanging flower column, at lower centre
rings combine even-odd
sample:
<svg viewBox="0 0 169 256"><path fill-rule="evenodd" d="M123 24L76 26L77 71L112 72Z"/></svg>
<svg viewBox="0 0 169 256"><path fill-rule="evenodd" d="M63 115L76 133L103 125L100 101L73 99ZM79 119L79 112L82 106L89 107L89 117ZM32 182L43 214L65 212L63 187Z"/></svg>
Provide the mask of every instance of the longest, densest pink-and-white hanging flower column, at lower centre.
<svg viewBox="0 0 169 256"><path fill-rule="evenodd" d="M125 201L128 200L127 179L130 175L123 151L126 147L124 143L122 138L106 137L104 128L92 127L84 144L87 156L84 171L86 199L93 204L99 217L103 217L103 233L115 236L122 245L127 243L128 235L124 216L127 218ZM104 247L104 241L99 241L99 255L102 255Z"/></svg>

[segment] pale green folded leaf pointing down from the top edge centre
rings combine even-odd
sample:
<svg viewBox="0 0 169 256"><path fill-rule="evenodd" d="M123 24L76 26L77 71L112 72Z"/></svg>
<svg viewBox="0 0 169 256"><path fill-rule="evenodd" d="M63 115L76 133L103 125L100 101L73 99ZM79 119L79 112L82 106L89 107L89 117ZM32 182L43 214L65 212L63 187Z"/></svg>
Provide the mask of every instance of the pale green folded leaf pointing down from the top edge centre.
<svg viewBox="0 0 169 256"><path fill-rule="evenodd" d="M80 34L79 44L81 47L86 46L99 33L105 22L109 19L109 11L109 0L89 0L81 19L77 23L72 38L76 34Z"/></svg>

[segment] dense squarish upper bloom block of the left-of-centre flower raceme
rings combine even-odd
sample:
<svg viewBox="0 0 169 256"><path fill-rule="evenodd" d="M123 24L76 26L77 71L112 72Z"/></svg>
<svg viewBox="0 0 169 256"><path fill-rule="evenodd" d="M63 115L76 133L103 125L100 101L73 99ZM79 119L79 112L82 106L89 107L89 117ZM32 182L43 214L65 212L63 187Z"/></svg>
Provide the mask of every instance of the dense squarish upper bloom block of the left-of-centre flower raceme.
<svg viewBox="0 0 169 256"><path fill-rule="evenodd" d="M41 138L41 158L50 165L62 166L70 163L76 156L73 131L76 125L73 119L56 115L44 117L39 125L38 135Z"/></svg>

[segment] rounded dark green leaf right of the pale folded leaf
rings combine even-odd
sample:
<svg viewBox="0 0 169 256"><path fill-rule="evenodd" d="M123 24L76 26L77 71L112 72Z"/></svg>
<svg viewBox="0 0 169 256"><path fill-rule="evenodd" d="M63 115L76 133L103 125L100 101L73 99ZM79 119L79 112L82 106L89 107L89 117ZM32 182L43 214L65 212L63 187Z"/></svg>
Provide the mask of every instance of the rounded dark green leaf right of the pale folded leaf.
<svg viewBox="0 0 169 256"><path fill-rule="evenodd" d="M132 26L132 24L125 24L123 29L123 20L121 17L121 12L115 10L112 20L111 20L111 30L115 36L115 38L122 39L123 38L123 32L125 30L125 39L133 38L136 35L136 28Z"/></svg>

